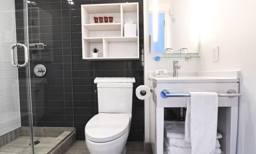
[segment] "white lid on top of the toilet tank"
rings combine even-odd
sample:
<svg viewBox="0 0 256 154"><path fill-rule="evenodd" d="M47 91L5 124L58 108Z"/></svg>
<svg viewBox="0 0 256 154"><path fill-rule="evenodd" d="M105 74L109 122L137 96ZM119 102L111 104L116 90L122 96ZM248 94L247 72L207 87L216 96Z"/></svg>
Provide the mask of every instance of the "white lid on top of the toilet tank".
<svg viewBox="0 0 256 154"><path fill-rule="evenodd" d="M113 77L113 78L95 78L94 83L135 83L135 78Z"/></svg>

